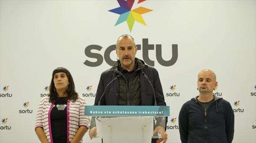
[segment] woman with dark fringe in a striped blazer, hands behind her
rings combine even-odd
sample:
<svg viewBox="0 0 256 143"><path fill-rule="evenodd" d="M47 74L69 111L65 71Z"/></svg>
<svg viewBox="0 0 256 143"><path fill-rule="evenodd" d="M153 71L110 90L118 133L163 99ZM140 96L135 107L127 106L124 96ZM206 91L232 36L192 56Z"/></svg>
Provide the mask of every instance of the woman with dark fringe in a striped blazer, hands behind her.
<svg viewBox="0 0 256 143"><path fill-rule="evenodd" d="M52 72L50 93L44 97L37 110L35 131L42 143L82 142L88 130L85 101L75 91L70 72L57 68Z"/></svg>

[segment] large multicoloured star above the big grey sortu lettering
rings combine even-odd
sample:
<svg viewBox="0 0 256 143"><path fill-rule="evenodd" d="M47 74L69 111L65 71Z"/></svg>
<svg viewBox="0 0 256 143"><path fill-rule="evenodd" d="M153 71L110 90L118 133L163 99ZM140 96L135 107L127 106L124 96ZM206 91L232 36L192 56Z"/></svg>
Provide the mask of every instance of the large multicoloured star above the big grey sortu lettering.
<svg viewBox="0 0 256 143"><path fill-rule="evenodd" d="M119 18L117 22L115 23L115 26L117 26L120 23L127 22L130 32L133 29L134 21L137 21L138 23L141 23L146 26L146 23L144 19L142 18L142 14L148 13L150 11L153 11L148 8L144 7L138 7L132 10L134 0L117 0L120 7L114 8L112 10L108 10L112 13L119 14ZM146 0L138 0L138 3L142 3Z"/></svg>

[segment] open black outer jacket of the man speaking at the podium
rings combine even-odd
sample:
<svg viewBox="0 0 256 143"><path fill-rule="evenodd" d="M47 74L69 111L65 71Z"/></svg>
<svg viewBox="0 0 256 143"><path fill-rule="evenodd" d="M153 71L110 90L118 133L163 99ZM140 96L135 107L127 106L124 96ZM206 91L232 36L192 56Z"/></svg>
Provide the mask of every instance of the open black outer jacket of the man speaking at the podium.
<svg viewBox="0 0 256 143"><path fill-rule="evenodd" d="M162 84L160 82L157 69L155 69L152 66L145 65L144 61L142 61L140 59L135 58L135 60L138 64L138 69L135 72L140 72L141 105L143 105L143 106L154 105L153 89L152 89L151 85L149 84L148 80L146 79L146 77L144 77L144 75L142 74L142 72L144 72L154 87L157 105L158 106L166 106L165 97L164 97L163 89L162 89ZM120 71L118 71L119 63L120 63L120 61L118 60L112 68L104 71L101 74L94 105L98 105L99 99L102 96L107 84L109 84L118 75L124 77L124 75ZM118 90L119 90L119 79L115 79L115 81L113 81L107 87L107 89L100 101L100 105L118 105L118 97L117 97L118 96L117 94L119 94Z"/></svg>

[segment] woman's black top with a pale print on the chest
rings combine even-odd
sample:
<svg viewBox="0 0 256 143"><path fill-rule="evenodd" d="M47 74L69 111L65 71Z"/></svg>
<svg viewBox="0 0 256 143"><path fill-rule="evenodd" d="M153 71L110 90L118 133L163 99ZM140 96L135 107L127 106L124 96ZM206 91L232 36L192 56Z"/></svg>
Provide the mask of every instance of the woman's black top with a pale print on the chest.
<svg viewBox="0 0 256 143"><path fill-rule="evenodd" d="M65 97L57 97L51 111L51 128L53 143L67 142L67 101Z"/></svg>

